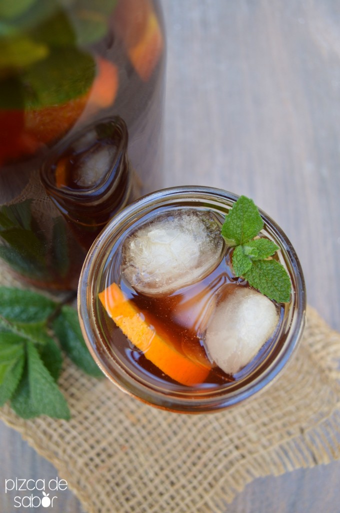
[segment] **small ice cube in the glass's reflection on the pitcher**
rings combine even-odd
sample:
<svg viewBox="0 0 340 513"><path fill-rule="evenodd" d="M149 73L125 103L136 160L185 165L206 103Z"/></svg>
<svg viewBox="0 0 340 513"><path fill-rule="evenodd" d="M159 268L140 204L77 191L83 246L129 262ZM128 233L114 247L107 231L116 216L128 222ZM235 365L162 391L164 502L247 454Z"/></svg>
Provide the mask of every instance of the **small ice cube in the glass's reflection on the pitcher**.
<svg viewBox="0 0 340 513"><path fill-rule="evenodd" d="M98 144L84 152L74 168L73 181L83 188L99 184L112 165L113 153L111 146Z"/></svg>

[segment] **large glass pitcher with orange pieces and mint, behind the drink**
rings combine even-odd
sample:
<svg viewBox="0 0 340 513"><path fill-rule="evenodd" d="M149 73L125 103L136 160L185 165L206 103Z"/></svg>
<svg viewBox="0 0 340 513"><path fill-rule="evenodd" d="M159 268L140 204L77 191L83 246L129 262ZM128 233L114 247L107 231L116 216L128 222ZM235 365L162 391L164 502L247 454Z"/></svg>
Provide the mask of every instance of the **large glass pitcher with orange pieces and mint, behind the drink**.
<svg viewBox="0 0 340 513"><path fill-rule="evenodd" d="M34 285L75 289L99 228L162 183L160 5L30 0L0 16L0 259ZM67 154L72 183L60 182ZM111 210L90 207L98 173Z"/></svg>

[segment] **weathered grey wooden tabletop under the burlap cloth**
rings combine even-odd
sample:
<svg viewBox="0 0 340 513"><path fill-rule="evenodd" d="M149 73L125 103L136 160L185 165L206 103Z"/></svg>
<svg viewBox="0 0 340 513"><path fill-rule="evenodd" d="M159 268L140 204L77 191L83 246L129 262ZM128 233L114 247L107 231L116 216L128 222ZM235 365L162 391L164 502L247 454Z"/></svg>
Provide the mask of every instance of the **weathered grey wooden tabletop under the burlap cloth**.
<svg viewBox="0 0 340 513"><path fill-rule="evenodd" d="M253 198L295 247L309 304L340 330L339 2L164 0L163 7L164 186L209 185ZM0 437L1 487L5 478L56 476L16 432L1 425ZM339 476L334 462L258 479L225 511L335 513ZM56 511L82 511L71 491L63 498Z"/></svg>

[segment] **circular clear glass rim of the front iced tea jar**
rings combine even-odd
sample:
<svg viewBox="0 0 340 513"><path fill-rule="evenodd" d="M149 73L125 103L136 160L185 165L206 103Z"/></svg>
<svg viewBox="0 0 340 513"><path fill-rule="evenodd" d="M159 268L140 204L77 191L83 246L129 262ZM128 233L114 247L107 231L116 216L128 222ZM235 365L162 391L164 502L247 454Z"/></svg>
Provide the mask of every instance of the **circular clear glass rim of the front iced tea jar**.
<svg viewBox="0 0 340 513"><path fill-rule="evenodd" d="M235 386L234 389L221 386L214 390L198 391L188 387L188 390L183 392L165 389L150 384L146 380L136 379L117 362L113 360L110 362L110 356L104 347L105 344L101 336L100 324L96 318L95 298L97 295L96 285L105 256L109 253L108 249L112 244L113 234L122 230L124 223L129 223L131 226L148 211L152 211L155 206L171 205L172 202L178 204L179 201L189 202L195 206L204 200L204 205L207 208L209 205L214 205L220 210L225 208L227 211L238 198L238 195L229 191L205 186L170 187L152 192L118 212L98 235L86 257L78 288L78 312L84 339L104 374L119 388L143 402L167 410L188 413L212 412L228 408L252 396L277 378L301 339L306 310L306 291L301 264L283 230L268 214L259 209L266 229L273 233L281 243L280 249L285 253L286 263L290 267L291 278L294 280L294 304L286 340L274 359L263 369L260 369L261 366L258 371L255 369L248 380L243 380L242 385ZM112 366L108 365L108 359Z"/></svg>

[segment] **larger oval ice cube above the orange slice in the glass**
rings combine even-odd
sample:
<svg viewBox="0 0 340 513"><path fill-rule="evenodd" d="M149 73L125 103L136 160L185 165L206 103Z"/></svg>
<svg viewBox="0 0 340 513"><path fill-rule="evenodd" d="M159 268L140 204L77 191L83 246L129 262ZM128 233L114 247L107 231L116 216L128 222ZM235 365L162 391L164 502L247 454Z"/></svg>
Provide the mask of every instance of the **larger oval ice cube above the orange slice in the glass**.
<svg viewBox="0 0 340 513"><path fill-rule="evenodd" d="M211 212L185 209L156 216L123 245L122 272L146 294L168 293L207 275L221 260L221 227Z"/></svg>

